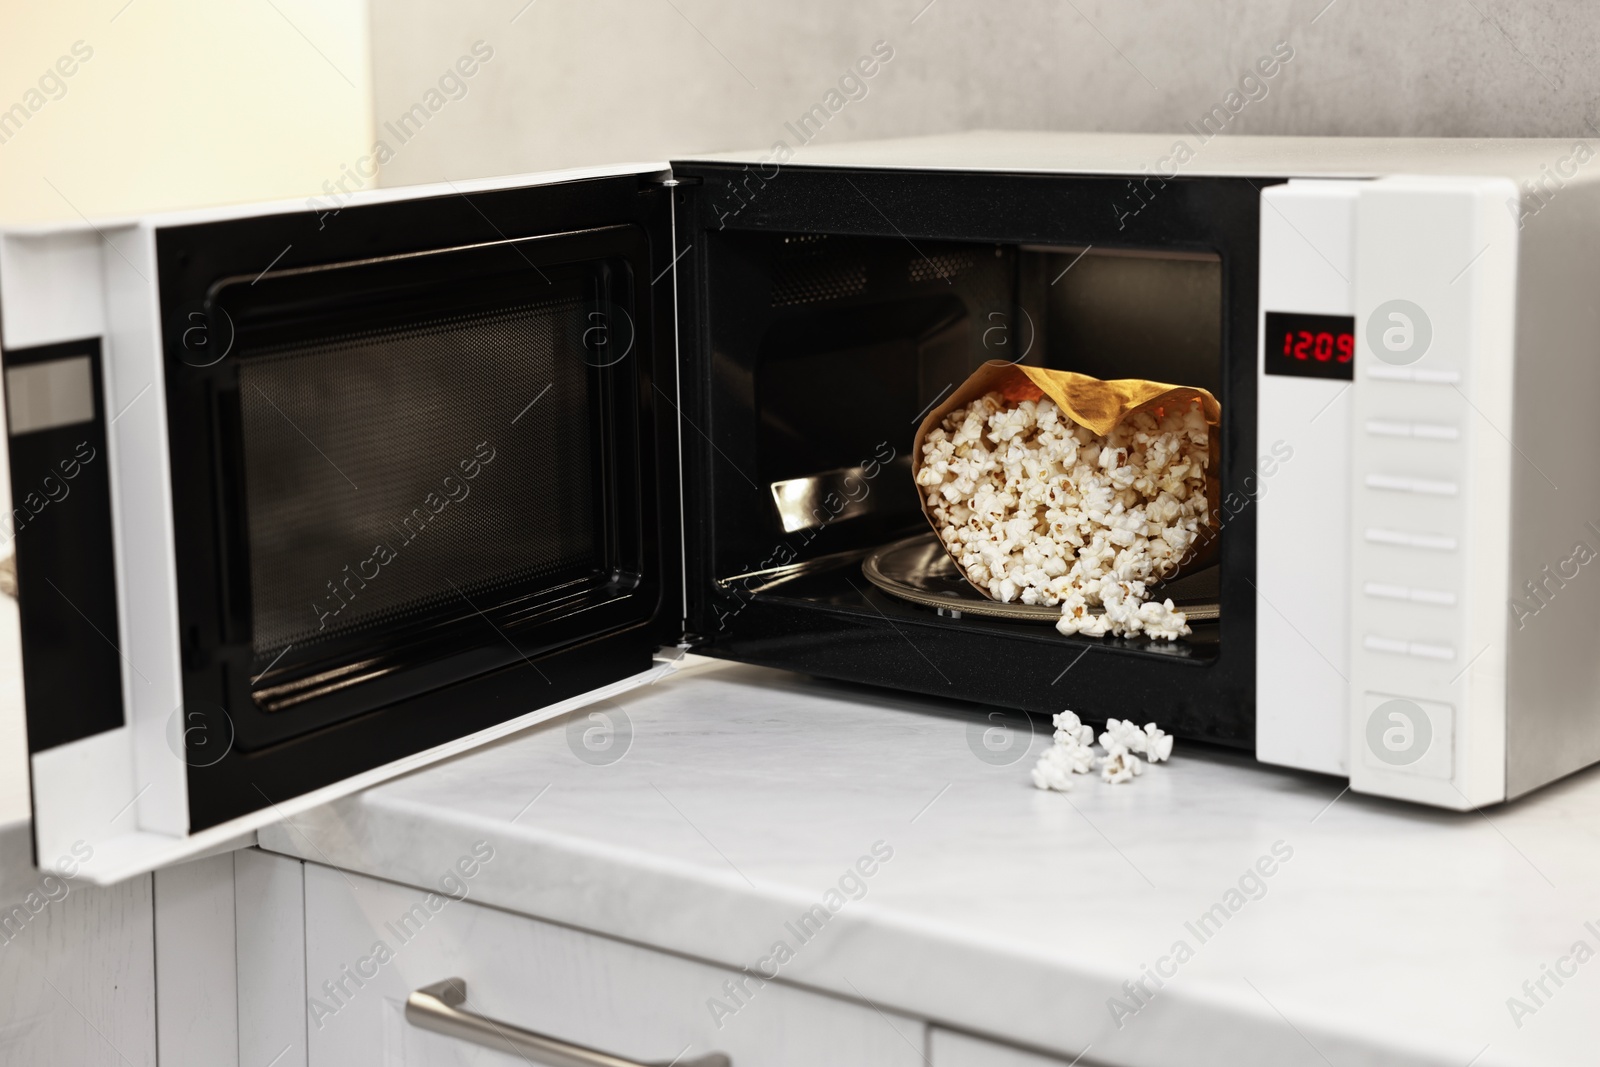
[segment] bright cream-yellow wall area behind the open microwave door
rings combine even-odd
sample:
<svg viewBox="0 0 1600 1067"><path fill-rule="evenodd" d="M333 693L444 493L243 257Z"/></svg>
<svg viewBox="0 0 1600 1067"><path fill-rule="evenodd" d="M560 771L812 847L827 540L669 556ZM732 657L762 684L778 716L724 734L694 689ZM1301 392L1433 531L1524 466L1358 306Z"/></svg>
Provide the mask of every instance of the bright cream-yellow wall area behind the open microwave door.
<svg viewBox="0 0 1600 1067"><path fill-rule="evenodd" d="M371 146L366 14L366 0L0 0L0 224L317 194ZM27 814L24 752L6 603L0 822Z"/></svg>

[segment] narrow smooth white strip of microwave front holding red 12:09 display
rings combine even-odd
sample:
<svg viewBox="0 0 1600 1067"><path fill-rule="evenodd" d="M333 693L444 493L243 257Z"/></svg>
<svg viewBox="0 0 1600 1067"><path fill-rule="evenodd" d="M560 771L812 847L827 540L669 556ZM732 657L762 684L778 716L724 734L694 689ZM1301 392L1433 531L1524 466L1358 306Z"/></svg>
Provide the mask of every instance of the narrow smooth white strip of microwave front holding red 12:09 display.
<svg viewBox="0 0 1600 1067"><path fill-rule="evenodd" d="M1256 757L1349 773L1350 379L1355 197L1261 192L1256 357Z"/></svg>

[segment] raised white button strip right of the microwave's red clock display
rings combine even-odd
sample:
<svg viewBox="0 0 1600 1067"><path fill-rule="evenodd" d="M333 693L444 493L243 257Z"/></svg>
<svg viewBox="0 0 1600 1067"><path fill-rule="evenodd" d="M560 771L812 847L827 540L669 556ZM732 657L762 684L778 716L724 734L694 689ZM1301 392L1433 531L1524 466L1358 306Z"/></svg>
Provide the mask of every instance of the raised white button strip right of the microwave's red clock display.
<svg viewBox="0 0 1600 1067"><path fill-rule="evenodd" d="M1350 785L1506 795L1517 264L1510 182L1366 182L1355 210Z"/></svg>

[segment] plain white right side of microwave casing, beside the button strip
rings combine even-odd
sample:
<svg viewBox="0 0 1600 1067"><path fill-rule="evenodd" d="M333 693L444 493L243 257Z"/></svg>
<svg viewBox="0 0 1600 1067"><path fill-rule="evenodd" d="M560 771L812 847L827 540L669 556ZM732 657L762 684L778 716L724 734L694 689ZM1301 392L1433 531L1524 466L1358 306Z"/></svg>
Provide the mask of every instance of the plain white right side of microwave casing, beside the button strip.
<svg viewBox="0 0 1600 1067"><path fill-rule="evenodd" d="M1600 761L1600 181L1571 146L1506 202L1522 242L1506 795ZM1501 563L1506 568L1506 563Z"/></svg>

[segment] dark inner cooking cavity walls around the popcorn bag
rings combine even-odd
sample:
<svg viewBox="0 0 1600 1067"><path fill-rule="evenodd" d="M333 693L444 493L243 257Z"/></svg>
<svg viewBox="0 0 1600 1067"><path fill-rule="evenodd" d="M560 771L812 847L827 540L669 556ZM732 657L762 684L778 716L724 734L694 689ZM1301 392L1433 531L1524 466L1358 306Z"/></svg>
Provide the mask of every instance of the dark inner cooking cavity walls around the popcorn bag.
<svg viewBox="0 0 1600 1067"><path fill-rule="evenodd" d="M824 234L726 243L738 267L712 288L714 307L742 314L712 326L712 406L734 445L722 445L734 477L714 515L714 584L734 600L714 609L718 630L749 597L859 606L862 553L933 537L912 432L987 360L1222 392L1216 256ZM741 501L746 477L763 502ZM1062 640L982 616L950 625ZM1192 629L1174 645L1110 643L1214 657L1218 625Z"/></svg>

